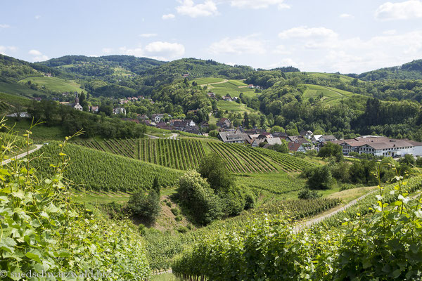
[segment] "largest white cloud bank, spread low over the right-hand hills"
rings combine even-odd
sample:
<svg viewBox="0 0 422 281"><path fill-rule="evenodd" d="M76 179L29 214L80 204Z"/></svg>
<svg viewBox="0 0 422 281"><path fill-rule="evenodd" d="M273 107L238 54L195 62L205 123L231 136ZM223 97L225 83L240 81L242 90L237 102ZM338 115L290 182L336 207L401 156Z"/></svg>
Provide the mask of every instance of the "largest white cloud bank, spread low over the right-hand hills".
<svg viewBox="0 0 422 281"><path fill-rule="evenodd" d="M388 30L369 39L342 38L324 29L292 30L297 32L281 32L281 38L289 40L284 48L276 48L273 53L290 51L289 58L307 60L304 65L307 71L361 73L422 57L422 30L405 33Z"/></svg>

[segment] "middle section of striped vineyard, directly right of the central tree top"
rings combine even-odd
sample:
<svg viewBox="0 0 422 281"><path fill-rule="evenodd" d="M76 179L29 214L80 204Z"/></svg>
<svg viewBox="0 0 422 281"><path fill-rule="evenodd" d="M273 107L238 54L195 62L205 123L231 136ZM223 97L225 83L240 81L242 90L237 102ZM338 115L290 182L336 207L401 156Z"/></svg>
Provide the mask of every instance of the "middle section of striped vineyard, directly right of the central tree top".
<svg viewBox="0 0 422 281"><path fill-rule="evenodd" d="M222 142L208 143L210 148L226 160L227 169L234 173L268 173L278 169L267 158L245 145Z"/></svg>

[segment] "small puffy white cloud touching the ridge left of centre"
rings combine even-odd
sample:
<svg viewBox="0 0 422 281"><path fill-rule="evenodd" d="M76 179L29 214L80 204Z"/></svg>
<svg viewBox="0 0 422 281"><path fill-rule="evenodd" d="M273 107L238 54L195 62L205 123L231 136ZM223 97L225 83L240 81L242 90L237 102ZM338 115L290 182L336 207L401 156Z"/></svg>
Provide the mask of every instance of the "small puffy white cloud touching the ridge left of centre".
<svg viewBox="0 0 422 281"><path fill-rule="evenodd" d="M185 48L179 43L169 43L155 41L145 46L145 51L150 58L157 60L167 60L181 58L184 55Z"/></svg>

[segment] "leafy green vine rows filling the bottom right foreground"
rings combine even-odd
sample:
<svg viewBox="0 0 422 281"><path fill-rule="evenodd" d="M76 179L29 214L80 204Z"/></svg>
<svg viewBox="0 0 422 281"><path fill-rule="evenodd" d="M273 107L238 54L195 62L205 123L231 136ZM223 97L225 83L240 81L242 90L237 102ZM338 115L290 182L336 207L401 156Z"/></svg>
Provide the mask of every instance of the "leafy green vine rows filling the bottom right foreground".
<svg viewBox="0 0 422 281"><path fill-rule="evenodd" d="M286 218L265 218L202 237L173 272L186 280L421 280L421 195L409 197L421 177L393 181L378 185L367 214L336 226L298 232Z"/></svg>

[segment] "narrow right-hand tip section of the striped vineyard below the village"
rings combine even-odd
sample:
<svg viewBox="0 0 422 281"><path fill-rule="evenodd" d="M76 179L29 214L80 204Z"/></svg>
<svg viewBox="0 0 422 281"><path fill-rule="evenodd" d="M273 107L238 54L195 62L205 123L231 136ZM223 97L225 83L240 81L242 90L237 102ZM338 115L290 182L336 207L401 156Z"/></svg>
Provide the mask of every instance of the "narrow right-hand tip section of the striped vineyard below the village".
<svg viewBox="0 0 422 281"><path fill-rule="evenodd" d="M306 160L285 153L280 153L265 148L253 149L257 150L257 152L260 152L260 154L269 157L271 160L279 164L281 166L281 169L286 172L303 171L303 169L314 166L314 164L311 162L307 162Z"/></svg>

